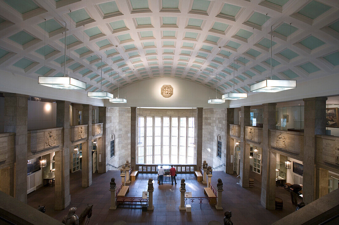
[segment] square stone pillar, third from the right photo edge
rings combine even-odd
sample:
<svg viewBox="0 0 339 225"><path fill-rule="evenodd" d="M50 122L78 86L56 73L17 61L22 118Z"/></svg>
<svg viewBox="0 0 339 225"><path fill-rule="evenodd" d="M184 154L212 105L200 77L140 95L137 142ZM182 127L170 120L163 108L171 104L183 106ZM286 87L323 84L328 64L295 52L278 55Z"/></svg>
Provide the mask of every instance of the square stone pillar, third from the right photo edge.
<svg viewBox="0 0 339 225"><path fill-rule="evenodd" d="M250 146L246 146L245 126L250 126L250 106L241 106L239 185L250 187Z"/></svg>

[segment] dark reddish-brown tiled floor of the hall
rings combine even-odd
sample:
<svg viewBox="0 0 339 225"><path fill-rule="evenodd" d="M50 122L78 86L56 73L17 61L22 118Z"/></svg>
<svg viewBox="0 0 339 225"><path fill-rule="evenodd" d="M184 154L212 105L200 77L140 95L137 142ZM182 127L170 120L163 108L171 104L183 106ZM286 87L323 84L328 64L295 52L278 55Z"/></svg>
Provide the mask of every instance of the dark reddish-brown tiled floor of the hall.
<svg viewBox="0 0 339 225"><path fill-rule="evenodd" d="M127 224L207 224L211 220L223 221L224 211L232 211L234 224L271 224L280 218L292 213L295 207L291 203L290 193L283 188L276 188L276 196L283 199L283 210L266 210L260 204L261 176L254 172L250 177L255 179L252 188L241 188L236 184L235 175L214 171L212 184L216 186L217 179L223 181L222 207L224 210L216 210L206 200L202 209L197 202L192 203L192 212L179 211L180 204L180 180L185 178L186 191L193 196L205 196L201 182L197 182L194 174L178 174L177 185L164 182L163 185L154 184L153 204L154 211L142 212L141 209L109 210L111 192L109 182L116 178L117 186L121 183L120 171L108 171L104 174L94 174L93 183L88 188L81 187L81 171L72 173L71 179L71 204L62 211L54 210L54 187L42 187L28 194L28 204L37 208L38 204L46 205L46 214L61 221L70 207L77 207L79 216L87 204L93 204L93 214L89 224L112 224L113 221L123 220ZM156 181L156 174L139 174L136 181L129 185L129 193L126 196L142 196L147 190L148 178ZM299 200L300 201L300 200Z"/></svg>

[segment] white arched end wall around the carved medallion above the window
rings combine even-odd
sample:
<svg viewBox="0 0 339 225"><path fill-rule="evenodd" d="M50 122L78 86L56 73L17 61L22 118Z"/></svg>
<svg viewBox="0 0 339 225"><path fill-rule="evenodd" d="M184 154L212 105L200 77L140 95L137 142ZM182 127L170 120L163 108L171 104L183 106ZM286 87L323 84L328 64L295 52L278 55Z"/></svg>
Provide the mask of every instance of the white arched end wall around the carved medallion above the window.
<svg viewBox="0 0 339 225"><path fill-rule="evenodd" d="M172 85L173 95L164 98L161 87ZM118 97L118 93L113 93ZM221 98L221 95L217 95ZM128 85L119 90L119 98L126 98L127 104L114 104L105 100L105 106L141 106L141 107L207 107L227 108L223 104L208 104L208 98L215 98L215 91L203 85L176 78L154 78Z"/></svg>

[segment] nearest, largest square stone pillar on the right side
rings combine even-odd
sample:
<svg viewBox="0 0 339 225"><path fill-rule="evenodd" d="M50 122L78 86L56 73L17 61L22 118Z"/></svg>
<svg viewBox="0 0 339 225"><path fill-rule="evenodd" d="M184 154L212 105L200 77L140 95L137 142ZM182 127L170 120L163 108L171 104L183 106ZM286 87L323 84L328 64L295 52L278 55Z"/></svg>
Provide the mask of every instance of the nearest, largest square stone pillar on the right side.
<svg viewBox="0 0 339 225"><path fill-rule="evenodd" d="M326 134L326 97L306 98L304 101L304 174L303 202L311 203L319 197L316 181L316 134Z"/></svg>

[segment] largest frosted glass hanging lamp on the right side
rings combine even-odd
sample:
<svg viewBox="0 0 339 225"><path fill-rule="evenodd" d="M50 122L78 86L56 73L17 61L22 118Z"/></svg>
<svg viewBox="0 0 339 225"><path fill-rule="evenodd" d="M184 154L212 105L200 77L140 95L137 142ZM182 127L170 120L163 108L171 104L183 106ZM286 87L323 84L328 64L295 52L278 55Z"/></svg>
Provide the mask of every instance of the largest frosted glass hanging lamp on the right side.
<svg viewBox="0 0 339 225"><path fill-rule="evenodd" d="M263 80L250 86L251 92L281 92L297 87L296 80Z"/></svg>

